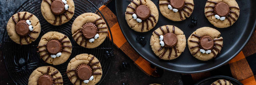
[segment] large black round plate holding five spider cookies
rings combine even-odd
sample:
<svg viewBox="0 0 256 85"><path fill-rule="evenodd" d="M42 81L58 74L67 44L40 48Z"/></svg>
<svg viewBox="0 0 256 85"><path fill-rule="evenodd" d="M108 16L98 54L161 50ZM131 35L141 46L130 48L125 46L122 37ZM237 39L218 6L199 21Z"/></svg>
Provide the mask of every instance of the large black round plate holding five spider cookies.
<svg viewBox="0 0 256 85"><path fill-rule="evenodd" d="M152 1L159 9L159 3L157 3L157 0ZM131 3L128 0L116 0L116 14L119 26L126 40L130 43L134 50L137 51L148 62L156 65L157 67L177 73L200 73L218 68L235 57L250 39L256 25L256 8L254 7L256 0L236 0L240 8L240 16L236 23L228 28L216 28L209 23L204 15L204 6L206 1L207 0L194 0L195 7L192 15L189 18L186 18L186 20L179 22L168 20L166 17L163 17L158 10L159 19L157 25L145 33L132 30L126 23L125 10L128 4ZM198 17L198 25L194 28L189 28L188 25L191 22L192 17ZM221 37L224 38L224 47L221 49L221 54L218 54L215 59L211 59L209 61L200 61L190 54L189 48L186 45L185 51L177 59L170 61L161 60L154 54L149 44L153 31L164 25L174 25L180 28L186 35L186 40L193 33L193 31L198 28L212 27L217 29L221 32ZM145 40L147 41L147 45L145 45L145 47L136 41L136 37L138 35L145 37Z"/></svg>

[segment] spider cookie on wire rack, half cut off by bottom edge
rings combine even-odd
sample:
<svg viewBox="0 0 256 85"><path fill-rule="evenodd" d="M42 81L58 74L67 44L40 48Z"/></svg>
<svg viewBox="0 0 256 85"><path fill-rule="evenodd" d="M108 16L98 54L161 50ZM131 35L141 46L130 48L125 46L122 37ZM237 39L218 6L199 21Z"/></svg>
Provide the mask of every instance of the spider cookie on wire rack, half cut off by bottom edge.
<svg viewBox="0 0 256 85"><path fill-rule="evenodd" d="M52 66L36 68L29 76L28 85L63 85L61 73Z"/></svg>

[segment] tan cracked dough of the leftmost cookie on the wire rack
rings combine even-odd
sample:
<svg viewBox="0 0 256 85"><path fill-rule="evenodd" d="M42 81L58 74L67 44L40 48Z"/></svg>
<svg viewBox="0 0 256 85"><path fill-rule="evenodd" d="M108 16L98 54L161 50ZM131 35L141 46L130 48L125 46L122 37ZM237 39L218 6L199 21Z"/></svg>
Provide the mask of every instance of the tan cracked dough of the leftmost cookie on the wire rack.
<svg viewBox="0 0 256 85"><path fill-rule="evenodd" d="M23 14L25 13L25 11L23 12L19 12L20 13L20 18L23 17ZM31 13L26 12L26 16L25 18L29 17L29 15L31 15ZM15 20L18 22L18 14L14 14L13 15ZM41 32L41 25L39 23L38 18L33 15L32 17L29 18L29 20L31 21L31 25L34 27L33 31L37 31L38 33L30 33L31 37L35 38L35 40L38 38L40 32ZM16 42L17 44L20 44L20 35L17 34L17 32L15 31L15 22L12 20L12 17L9 19L7 26L6 26L6 30L7 33L9 35L9 37L12 39L12 41ZM32 40L30 37L27 37L28 42L34 42L35 40ZM21 43L22 45L27 45L28 43L26 42L25 38L21 39Z"/></svg>

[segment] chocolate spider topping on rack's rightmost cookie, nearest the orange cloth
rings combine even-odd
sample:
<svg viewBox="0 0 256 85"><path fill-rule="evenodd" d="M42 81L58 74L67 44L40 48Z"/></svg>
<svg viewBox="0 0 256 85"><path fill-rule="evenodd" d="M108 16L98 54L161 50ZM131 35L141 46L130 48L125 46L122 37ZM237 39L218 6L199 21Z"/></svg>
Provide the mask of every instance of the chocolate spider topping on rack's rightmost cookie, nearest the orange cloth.
<svg viewBox="0 0 256 85"><path fill-rule="evenodd" d="M107 27L97 27L99 24L105 24L105 22L100 22L100 23L96 23L96 21L101 20L102 17L96 19L95 21L93 21L93 23L89 22L84 24L84 26L81 27L81 29L78 30L78 32L76 32L76 34L74 34L73 37L76 37L76 35L78 33L81 33L77 38L76 38L76 42L79 40L79 37L82 36L82 41L80 42L80 45L83 44L84 40L85 40L85 44L84 46L87 47L87 42L91 42L93 43L95 39L99 38L99 33L103 32L103 33L108 33L108 31L98 31L101 28L107 28Z"/></svg>

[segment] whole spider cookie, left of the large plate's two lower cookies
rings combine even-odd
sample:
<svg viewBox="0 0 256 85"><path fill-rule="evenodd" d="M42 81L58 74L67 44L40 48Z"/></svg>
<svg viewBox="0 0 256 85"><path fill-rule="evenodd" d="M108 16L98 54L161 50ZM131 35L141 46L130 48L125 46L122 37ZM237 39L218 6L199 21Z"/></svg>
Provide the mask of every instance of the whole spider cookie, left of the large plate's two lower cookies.
<svg viewBox="0 0 256 85"><path fill-rule="evenodd" d="M160 59L172 60L184 51L186 37L176 26L161 26L152 33L150 45Z"/></svg>

